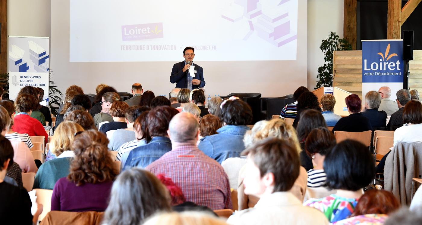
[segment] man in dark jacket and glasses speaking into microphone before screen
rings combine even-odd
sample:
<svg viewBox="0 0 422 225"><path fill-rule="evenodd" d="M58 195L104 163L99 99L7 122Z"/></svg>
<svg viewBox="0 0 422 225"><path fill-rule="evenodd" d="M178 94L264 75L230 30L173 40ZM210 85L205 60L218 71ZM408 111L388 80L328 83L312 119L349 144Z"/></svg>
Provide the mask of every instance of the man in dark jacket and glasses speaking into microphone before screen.
<svg viewBox="0 0 422 225"><path fill-rule="evenodd" d="M185 60L173 65L170 82L177 82L176 88L188 88L192 91L193 89L203 88L205 86L202 67L192 62L193 57L195 57L195 49L192 47L186 47L183 50L183 58L185 58ZM189 72L191 65L195 66L195 68L194 70L190 70L190 72L195 73L195 75L191 75Z"/></svg>

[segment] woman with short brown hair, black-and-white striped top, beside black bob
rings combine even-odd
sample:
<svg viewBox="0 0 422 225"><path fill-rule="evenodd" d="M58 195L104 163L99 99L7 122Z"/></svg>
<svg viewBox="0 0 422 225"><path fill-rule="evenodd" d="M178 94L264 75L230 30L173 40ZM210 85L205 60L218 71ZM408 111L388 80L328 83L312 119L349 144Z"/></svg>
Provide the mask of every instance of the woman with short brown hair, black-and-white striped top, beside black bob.
<svg viewBox="0 0 422 225"><path fill-rule="evenodd" d="M325 154L335 145L335 137L325 127L313 129L306 138L305 150L312 158L313 169L308 170L308 187L323 187L325 172L323 163Z"/></svg>

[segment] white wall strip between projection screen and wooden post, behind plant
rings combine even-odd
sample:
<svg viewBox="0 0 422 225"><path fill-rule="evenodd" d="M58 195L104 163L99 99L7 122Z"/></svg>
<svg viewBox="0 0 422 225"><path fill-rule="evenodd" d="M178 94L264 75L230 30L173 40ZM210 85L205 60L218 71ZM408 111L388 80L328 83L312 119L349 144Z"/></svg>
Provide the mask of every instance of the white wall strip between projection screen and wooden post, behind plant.
<svg viewBox="0 0 422 225"><path fill-rule="evenodd" d="M331 31L343 38L344 0L308 0L308 88L317 85L318 67L324 65L319 49Z"/></svg>

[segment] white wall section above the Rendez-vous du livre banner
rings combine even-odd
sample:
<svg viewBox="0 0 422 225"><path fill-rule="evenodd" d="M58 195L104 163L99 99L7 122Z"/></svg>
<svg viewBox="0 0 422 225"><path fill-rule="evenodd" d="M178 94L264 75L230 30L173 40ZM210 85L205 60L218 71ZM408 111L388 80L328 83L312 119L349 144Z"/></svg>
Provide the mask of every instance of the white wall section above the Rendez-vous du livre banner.
<svg viewBox="0 0 422 225"><path fill-rule="evenodd" d="M50 37L51 0L8 0L7 34Z"/></svg>

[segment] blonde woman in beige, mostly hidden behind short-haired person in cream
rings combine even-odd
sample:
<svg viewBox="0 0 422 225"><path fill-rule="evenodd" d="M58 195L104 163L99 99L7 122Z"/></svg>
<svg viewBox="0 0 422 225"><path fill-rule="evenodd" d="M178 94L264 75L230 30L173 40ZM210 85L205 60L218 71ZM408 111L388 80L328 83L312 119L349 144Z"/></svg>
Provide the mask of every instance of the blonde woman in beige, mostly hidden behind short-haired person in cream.
<svg viewBox="0 0 422 225"><path fill-rule="evenodd" d="M259 124L255 124L255 126L259 126ZM254 128L255 128L254 126ZM253 132L252 132L253 133ZM249 135L248 135L249 136ZM245 135L245 140L246 140ZM296 152L299 155L299 153L302 151L300 148L300 144L298 141L298 137L296 136L295 129L288 125L287 123L284 123L284 121L280 119L273 119L271 121L268 121L267 123L264 123L264 126L260 128L257 132L255 132L254 137L252 138L252 143L257 143L263 139L267 138L277 138L282 139L284 141L291 142L292 145L295 146ZM251 145L252 145L251 143ZM249 145L248 147L250 147ZM230 158L229 158L230 159ZM226 161L228 161L227 159ZM224 163L224 162L223 162ZM223 165L222 163L222 165ZM246 162L245 162L246 163ZM238 171L238 206L239 209L247 209L254 207L254 205L257 203L259 198L255 196L248 196L244 194L244 186L243 186L243 171L245 170L246 166L243 166L240 171ZM231 172L227 172L230 174ZM308 178L308 175L306 174L305 168L300 166L299 169L299 176L296 179L293 187L289 190L290 193L292 193L296 198L299 199L299 201L303 201L303 198L306 193L306 179Z"/></svg>

